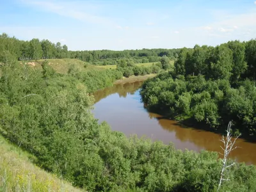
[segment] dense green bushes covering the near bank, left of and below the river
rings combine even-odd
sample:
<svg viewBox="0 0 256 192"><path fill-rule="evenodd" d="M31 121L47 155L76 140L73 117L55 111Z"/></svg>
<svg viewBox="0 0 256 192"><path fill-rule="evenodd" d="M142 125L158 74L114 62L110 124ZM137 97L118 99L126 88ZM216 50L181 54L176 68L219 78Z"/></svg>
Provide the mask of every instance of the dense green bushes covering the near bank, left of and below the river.
<svg viewBox="0 0 256 192"><path fill-rule="evenodd" d="M59 74L47 61L36 70L6 49L1 53L1 134L33 154L45 170L88 191L217 190L222 167L217 153L182 152L172 143L127 138L97 122L90 93L122 77L119 70L70 67ZM256 190L255 166L236 163L228 175L220 191Z"/></svg>

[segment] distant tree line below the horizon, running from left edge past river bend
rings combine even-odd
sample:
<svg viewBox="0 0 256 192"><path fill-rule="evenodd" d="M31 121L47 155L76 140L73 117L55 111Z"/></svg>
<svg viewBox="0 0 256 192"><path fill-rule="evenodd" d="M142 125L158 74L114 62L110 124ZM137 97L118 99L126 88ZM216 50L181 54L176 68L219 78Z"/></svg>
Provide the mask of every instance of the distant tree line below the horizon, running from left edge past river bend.
<svg viewBox="0 0 256 192"><path fill-rule="evenodd" d="M29 41L18 40L6 33L0 35L0 61L6 54L18 60L76 58L93 65L116 65L120 60L129 59L133 63L158 62L163 56L170 60L177 58L180 49L141 49L125 51L68 51L67 45L56 44L49 40L33 38Z"/></svg>

